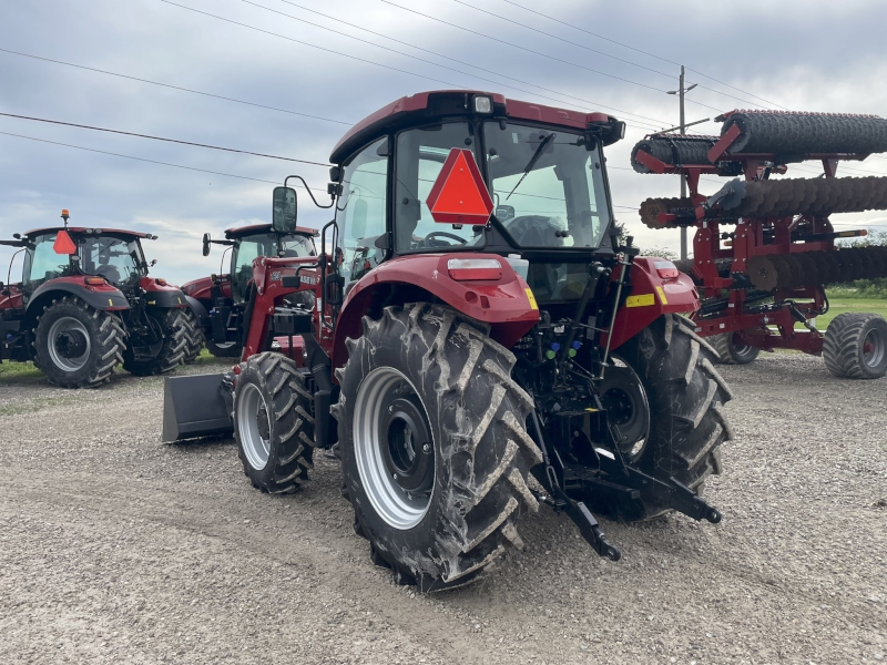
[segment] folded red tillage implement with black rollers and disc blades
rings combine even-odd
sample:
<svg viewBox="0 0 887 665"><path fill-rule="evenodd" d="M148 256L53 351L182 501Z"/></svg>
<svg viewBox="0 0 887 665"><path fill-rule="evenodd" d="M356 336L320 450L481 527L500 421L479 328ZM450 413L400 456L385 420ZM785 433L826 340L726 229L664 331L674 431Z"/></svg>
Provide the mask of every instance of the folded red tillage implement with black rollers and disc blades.
<svg viewBox="0 0 887 665"><path fill-rule="evenodd" d="M828 310L826 285L887 277L887 247L838 247L835 241L866 232L835 231L829 221L887 209L887 177L836 177L839 162L887 152L887 120L772 111L717 120L720 136L652 134L632 152L639 173L677 173L689 184L689 197L649 198L640 214L651 228L696 227L693 258L679 262L703 295L696 331L728 364L796 349L822 355L837 377L885 376L883 317L840 314L824 335L815 319ZM771 177L807 161L822 164L820 177ZM705 174L734 180L705 196Z"/></svg>

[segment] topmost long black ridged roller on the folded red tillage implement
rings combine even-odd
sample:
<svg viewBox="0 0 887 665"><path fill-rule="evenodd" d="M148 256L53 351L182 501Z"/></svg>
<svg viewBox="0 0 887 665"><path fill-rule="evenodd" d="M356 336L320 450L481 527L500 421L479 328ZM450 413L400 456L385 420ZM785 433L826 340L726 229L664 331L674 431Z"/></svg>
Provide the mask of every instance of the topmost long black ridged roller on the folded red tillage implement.
<svg viewBox="0 0 887 665"><path fill-rule="evenodd" d="M727 147L727 152L733 154L766 153L791 157L887 152L887 120L877 115L737 111L725 116L721 135L733 125L740 127L740 135ZM781 161L791 162L792 158Z"/></svg>

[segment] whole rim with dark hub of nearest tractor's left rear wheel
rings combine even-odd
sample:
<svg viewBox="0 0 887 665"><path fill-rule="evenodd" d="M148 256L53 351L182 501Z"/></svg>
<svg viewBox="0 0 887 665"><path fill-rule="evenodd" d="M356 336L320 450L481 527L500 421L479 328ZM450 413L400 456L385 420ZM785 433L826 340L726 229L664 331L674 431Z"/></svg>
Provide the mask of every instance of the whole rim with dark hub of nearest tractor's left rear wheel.
<svg viewBox="0 0 887 665"><path fill-rule="evenodd" d="M409 379L390 367L369 372L355 400L354 450L364 491L390 526L411 529L428 512L434 448L428 416Z"/></svg>

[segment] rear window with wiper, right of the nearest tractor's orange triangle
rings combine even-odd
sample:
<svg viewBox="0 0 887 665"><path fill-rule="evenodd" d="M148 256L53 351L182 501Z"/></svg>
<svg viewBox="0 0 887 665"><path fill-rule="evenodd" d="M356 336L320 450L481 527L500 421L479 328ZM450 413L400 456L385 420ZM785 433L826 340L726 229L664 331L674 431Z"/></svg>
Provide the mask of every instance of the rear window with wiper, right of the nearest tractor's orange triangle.
<svg viewBox="0 0 887 665"><path fill-rule="evenodd" d="M598 247L610 223L597 143L562 130L483 124L496 217L521 247Z"/></svg>

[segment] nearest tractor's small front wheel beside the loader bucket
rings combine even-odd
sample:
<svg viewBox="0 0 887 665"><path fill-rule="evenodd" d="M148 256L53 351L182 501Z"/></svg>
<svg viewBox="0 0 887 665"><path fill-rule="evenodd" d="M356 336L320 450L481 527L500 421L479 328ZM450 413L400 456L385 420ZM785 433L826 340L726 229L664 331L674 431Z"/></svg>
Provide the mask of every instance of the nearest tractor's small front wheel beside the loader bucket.
<svg viewBox="0 0 887 665"><path fill-rule="evenodd" d="M313 468L313 399L286 356L265 351L241 364L234 391L234 439L253 487L295 492Z"/></svg>

